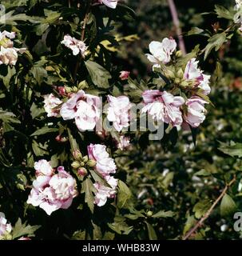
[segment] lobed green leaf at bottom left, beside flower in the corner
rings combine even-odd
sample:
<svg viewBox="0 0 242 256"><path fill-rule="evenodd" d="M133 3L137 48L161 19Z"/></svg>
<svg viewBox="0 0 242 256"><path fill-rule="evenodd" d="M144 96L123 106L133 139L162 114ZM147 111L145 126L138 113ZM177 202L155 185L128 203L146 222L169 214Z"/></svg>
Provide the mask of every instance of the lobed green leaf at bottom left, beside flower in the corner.
<svg viewBox="0 0 242 256"><path fill-rule="evenodd" d="M26 225L26 223L22 223L21 219L18 218L18 221L15 223L14 230L13 230L13 239L20 238L24 235L27 235L28 237L33 237L34 232L38 230L40 226L30 226Z"/></svg>

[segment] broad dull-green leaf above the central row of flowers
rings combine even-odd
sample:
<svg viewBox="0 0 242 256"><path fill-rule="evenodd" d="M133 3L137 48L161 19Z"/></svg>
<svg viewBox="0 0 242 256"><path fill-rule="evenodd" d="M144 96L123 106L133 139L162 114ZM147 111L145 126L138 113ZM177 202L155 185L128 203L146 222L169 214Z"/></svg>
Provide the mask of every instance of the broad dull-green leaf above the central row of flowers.
<svg viewBox="0 0 242 256"><path fill-rule="evenodd" d="M86 61L85 66L95 86L99 88L109 88L109 79L112 78L109 71L92 61Z"/></svg>

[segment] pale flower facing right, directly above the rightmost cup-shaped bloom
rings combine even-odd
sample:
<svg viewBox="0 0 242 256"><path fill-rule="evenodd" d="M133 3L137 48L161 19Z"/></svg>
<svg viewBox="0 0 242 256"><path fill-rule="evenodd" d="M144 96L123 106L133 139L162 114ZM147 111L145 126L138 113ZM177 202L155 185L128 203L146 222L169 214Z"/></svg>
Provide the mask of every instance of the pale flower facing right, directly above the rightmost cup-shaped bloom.
<svg viewBox="0 0 242 256"><path fill-rule="evenodd" d="M192 58L184 70L184 79L188 81L194 80L194 86L199 87L201 90L203 90L205 95L208 95L211 91L209 86L209 79L211 76L208 74L203 74L203 72L204 71L200 70L198 67L198 61L196 61L196 58Z"/></svg>

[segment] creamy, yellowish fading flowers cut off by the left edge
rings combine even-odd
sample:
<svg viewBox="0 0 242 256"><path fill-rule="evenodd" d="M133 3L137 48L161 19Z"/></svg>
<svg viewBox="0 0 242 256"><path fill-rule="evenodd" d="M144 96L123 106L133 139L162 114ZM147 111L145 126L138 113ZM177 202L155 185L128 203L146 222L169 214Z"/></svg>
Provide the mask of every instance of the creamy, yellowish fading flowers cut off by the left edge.
<svg viewBox="0 0 242 256"><path fill-rule="evenodd" d="M0 32L0 65L15 65L18 60L18 52L23 53L26 49L18 49L14 47L11 39L15 38L14 32L4 30Z"/></svg>

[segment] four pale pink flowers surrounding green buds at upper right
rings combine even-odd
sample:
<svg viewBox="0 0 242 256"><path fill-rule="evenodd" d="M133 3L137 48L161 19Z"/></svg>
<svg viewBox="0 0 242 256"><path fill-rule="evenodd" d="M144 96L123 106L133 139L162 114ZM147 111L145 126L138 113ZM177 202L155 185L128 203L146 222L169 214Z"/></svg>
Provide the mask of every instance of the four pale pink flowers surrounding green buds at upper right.
<svg viewBox="0 0 242 256"><path fill-rule="evenodd" d="M163 39L161 43L151 42L149 48L153 55L148 54L149 61L156 63L155 67L159 67L161 62L168 63L176 46L176 42L169 38ZM178 75L182 75L182 77L175 79L174 82L183 89L193 91L192 97L183 98L174 96L167 91L145 90L142 94L145 103L142 112L147 112L156 121L162 121L172 126L198 127L200 123L204 122L206 114L204 104L208 102L197 96L196 92L198 91L201 96L210 93L210 75L204 74L204 71L200 70L196 58L190 59L184 71L179 70ZM175 75L173 74L173 76Z"/></svg>

